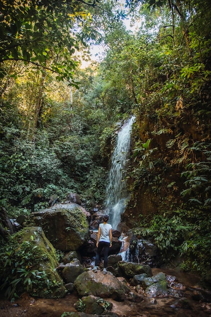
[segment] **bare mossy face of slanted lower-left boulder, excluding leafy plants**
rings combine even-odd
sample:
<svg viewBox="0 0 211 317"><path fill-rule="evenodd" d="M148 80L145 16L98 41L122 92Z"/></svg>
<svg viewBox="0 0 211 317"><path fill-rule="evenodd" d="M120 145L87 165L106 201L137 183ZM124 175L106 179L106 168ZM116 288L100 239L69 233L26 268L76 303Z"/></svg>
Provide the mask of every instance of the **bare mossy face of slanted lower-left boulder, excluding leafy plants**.
<svg viewBox="0 0 211 317"><path fill-rule="evenodd" d="M13 239L18 241L18 246L13 250L17 262L21 256L23 263L24 261L27 263L27 266L24 269L22 268L23 273L27 275L20 281L17 291L25 291L24 282L26 277L29 276L31 288L28 291L30 295L39 298L64 297L66 289L61 276L56 270L58 266L56 251L41 227L25 227L15 233ZM12 267L11 269L14 270L15 268ZM23 276L23 274L20 274L20 276Z"/></svg>

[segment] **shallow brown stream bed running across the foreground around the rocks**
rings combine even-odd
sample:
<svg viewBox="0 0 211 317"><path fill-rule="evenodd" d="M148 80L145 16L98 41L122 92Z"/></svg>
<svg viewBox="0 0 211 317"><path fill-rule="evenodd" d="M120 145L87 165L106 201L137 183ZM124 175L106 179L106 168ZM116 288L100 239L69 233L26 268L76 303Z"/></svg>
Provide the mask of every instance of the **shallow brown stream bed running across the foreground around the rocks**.
<svg viewBox="0 0 211 317"><path fill-rule="evenodd" d="M121 317L145 317L145 316L177 316L177 317L208 317L211 316L211 293L202 289L199 278L190 273L173 269L152 269L153 275L164 272L166 275L176 276L177 283L174 289L180 296L167 295L161 297L146 297L131 287L131 291L124 301L116 301L112 298L104 298L112 303L112 310L105 315ZM98 274L101 274L99 271ZM108 272L108 274L110 274ZM73 291L64 298L43 299L32 298L28 294L10 302L3 297L0 299L1 317L61 317L64 312L77 312L74 304L78 301L78 294ZM66 314L67 315L67 314ZM76 316L76 315L75 315ZM91 317L97 314L77 312L77 316Z"/></svg>

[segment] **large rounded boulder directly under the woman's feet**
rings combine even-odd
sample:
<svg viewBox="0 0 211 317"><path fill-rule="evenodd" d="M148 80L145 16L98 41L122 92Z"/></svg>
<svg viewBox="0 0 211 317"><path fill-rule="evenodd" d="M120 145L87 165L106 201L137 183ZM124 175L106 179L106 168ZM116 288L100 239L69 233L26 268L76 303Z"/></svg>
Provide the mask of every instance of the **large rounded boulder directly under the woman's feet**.
<svg viewBox="0 0 211 317"><path fill-rule="evenodd" d="M94 295L102 298L113 298L117 301L124 300L125 293L130 291L113 274L110 272L102 274L99 270L96 273L89 270L80 274L74 282L74 287L80 297Z"/></svg>

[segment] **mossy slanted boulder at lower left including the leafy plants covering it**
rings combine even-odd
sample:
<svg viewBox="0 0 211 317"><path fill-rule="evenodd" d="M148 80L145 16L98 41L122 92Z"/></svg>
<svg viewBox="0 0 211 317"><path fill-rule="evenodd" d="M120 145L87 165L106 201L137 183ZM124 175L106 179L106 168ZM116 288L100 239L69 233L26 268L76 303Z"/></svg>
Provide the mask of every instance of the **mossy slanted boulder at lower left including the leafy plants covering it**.
<svg viewBox="0 0 211 317"><path fill-rule="evenodd" d="M0 276L8 298L22 292L44 298L65 295L55 269L55 249L40 227L26 227L12 235L1 251Z"/></svg>

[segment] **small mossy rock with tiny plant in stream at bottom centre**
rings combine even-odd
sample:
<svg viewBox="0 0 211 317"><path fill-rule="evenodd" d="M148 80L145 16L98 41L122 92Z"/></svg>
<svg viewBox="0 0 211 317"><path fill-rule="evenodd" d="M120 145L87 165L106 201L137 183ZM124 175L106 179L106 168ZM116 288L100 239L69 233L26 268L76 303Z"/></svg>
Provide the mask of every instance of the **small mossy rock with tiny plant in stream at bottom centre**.
<svg viewBox="0 0 211 317"><path fill-rule="evenodd" d="M86 312L88 314L104 314L107 310L112 309L113 304L101 297L89 295L79 299L74 304L74 307L76 310Z"/></svg>

